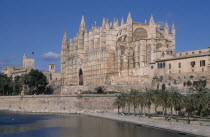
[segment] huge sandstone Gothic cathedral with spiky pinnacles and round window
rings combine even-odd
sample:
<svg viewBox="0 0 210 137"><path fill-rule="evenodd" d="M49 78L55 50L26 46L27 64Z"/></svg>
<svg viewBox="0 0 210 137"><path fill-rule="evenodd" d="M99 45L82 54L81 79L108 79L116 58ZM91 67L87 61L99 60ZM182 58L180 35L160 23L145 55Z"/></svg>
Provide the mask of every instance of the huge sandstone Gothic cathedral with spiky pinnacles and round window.
<svg viewBox="0 0 210 137"><path fill-rule="evenodd" d="M79 33L68 41L64 34L61 50L63 85L148 84L156 76L154 64L175 56L175 27L169 31L156 24L103 19L102 26L88 32L82 16Z"/></svg>

